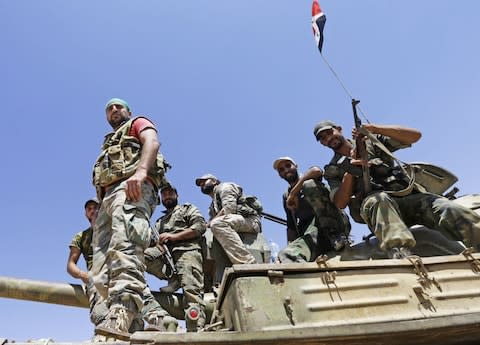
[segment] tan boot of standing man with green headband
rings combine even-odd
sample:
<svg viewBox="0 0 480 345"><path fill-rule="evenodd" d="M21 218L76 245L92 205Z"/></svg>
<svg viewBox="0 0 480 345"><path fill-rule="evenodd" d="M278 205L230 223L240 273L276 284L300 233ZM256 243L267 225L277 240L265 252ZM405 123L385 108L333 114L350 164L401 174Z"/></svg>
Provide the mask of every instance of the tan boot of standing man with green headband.
<svg viewBox="0 0 480 345"><path fill-rule="evenodd" d="M104 335L117 340L130 340L129 328L135 318L135 313L123 305L113 305L107 318L95 327L96 335Z"/></svg>

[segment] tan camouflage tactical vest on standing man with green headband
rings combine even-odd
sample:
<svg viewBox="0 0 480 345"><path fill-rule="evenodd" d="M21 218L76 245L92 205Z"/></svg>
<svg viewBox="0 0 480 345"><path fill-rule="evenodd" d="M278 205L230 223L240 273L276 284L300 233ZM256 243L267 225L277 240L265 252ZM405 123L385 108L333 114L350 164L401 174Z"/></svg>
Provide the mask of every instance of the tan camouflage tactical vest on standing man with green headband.
<svg viewBox="0 0 480 345"><path fill-rule="evenodd" d="M93 185L97 188L97 193L103 187L135 174L140 162L142 144L138 138L130 136L129 133L133 121L137 118L127 121L115 132L105 136L102 151L93 167ZM157 189L168 183L165 172L169 167L162 154L158 152L157 159L147 173L149 180Z"/></svg>

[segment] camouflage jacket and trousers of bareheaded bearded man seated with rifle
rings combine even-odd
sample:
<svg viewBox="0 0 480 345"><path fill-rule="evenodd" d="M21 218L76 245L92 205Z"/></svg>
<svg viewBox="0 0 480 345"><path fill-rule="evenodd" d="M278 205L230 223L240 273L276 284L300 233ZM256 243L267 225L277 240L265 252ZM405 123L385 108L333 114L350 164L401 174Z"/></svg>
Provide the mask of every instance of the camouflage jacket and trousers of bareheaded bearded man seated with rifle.
<svg viewBox="0 0 480 345"><path fill-rule="evenodd" d="M167 212L167 211L166 211ZM199 237L182 242L167 243L178 271L180 286L183 289L183 307L198 307L205 310L203 300L203 260L201 253L201 235L205 233L206 223L200 210L192 204L176 205L171 212L159 218L155 224L157 231L178 233L185 229L198 231ZM164 279L164 264L160 259L162 253L156 247L145 251L147 272Z"/></svg>

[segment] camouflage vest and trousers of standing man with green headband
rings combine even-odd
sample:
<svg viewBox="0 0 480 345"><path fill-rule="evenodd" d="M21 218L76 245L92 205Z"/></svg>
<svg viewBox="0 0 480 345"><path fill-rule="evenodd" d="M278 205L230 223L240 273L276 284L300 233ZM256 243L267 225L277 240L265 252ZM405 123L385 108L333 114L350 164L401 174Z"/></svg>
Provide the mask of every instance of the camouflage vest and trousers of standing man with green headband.
<svg viewBox="0 0 480 345"><path fill-rule="evenodd" d="M150 245L149 219L158 204L157 188L164 180L163 157L148 171L139 201L127 200L126 180L141 159L140 140L130 134L130 119L105 137L93 170L93 184L101 200L93 233L90 276L112 315L132 315L143 308L146 281L144 250ZM146 128L155 129L154 125ZM122 316L123 317L123 316Z"/></svg>

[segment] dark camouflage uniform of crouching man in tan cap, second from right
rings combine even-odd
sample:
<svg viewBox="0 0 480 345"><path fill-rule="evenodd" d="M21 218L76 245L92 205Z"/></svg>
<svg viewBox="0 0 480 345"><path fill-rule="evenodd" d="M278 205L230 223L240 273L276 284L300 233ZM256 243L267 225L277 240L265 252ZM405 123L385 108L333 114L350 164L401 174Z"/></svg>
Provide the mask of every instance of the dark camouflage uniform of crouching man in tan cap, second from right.
<svg viewBox="0 0 480 345"><path fill-rule="evenodd" d="M299 206L292 213L286 206L291 188L283 195L283 207L287 214L287 226L298 230L297 238L281 250L281 262L311 262L319 255L333 251L332 241L348 238L348 216L330 201L330 191L321 180L304 182L299 195Z"/></svg>

